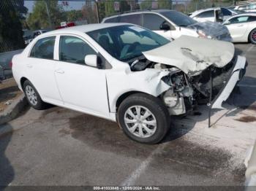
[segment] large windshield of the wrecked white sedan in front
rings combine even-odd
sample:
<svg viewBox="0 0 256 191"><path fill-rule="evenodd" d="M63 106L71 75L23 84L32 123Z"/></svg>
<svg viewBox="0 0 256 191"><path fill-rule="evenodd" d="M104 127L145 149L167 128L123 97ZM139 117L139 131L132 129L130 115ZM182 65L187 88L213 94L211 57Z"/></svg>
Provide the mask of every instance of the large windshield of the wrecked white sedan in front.
<svg viewBox="0 0 256 191"><path fill-rule="evenodd" d="M119 61L132 60L142 55L143 51L170 42L146 28L131 25L102 28L87 34Z"/></svg>

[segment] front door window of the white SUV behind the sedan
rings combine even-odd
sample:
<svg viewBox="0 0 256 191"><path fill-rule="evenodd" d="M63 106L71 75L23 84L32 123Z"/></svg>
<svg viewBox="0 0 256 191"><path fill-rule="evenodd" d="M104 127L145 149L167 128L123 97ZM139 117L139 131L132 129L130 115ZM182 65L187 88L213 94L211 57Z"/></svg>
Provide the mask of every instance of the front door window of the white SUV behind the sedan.
<svg viewBox="0 0 256 191"><path fill-rule="evenodd" d="M144 14L143 15L143 26L152 31L159 31L160 25L165 22L163 17L155 14Z"/></svg>

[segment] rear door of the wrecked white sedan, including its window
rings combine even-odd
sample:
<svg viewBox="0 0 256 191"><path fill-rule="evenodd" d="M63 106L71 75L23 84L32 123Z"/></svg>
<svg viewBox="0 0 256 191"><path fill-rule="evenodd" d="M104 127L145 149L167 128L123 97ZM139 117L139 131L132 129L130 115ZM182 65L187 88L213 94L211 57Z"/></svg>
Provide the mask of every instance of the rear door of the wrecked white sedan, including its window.
<svg viewBox="0 0 256 191"><path fill-rule="evenodd" d="M26 77L36 87L44 101L62 105L54 77L56 36L39 39L26 60Z"/></svg>

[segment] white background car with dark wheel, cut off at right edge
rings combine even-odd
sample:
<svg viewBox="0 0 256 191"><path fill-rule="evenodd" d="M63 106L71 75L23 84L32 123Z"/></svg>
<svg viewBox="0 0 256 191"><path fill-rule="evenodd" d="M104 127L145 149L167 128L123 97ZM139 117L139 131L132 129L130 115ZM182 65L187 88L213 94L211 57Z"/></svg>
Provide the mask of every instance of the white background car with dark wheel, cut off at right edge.
<svg viewBox="0 0 256 191"><path fill-rule="evenodd" d="M233 42L252 42L256 44L256 13L243 13L227 19L227 26Z"/></svg>

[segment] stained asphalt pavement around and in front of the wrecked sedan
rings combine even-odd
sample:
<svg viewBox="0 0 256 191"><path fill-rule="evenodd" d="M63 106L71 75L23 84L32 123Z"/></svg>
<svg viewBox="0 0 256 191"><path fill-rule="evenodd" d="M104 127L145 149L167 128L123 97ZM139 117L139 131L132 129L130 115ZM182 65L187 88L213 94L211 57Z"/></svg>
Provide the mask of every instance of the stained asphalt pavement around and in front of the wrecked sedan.
<svg viewBox="0 0 256 191"><path fill-rule="evenodd" d="M225 110L173 118L157 145L130 141L108 120L68 109L29 109L0 137L0 185L242 185L246 149L256 137L256 47ZM1 127L0 127L1 128Z"/></svg>

